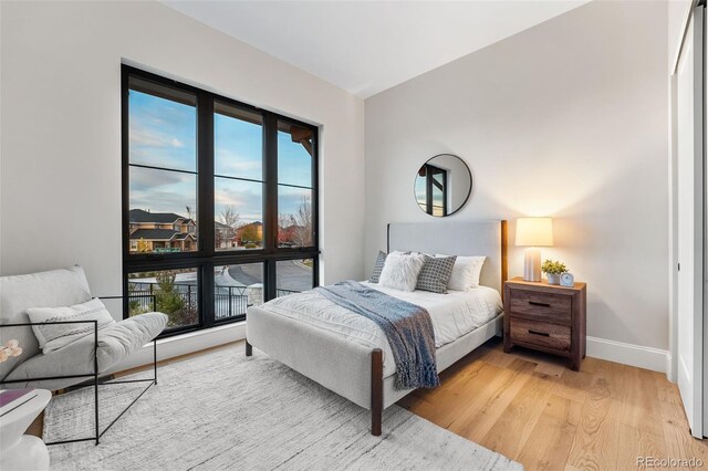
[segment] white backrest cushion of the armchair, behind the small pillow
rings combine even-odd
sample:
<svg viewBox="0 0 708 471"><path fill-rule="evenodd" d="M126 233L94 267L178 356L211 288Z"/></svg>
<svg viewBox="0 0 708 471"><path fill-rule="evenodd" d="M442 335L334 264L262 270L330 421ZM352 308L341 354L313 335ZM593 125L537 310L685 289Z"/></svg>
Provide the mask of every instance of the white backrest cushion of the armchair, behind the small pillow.
<svg viewBox="0 0 708 471"><path fill-rule="evenodd" d="M28 307L72 306L86 301L91 301L91 290L81 266L0 276L0 324L28 323ZM0 328L0 343L11 338L20 342L22 355L0 363L0 380L17 365L40 353L32 328Z"/></svg>

